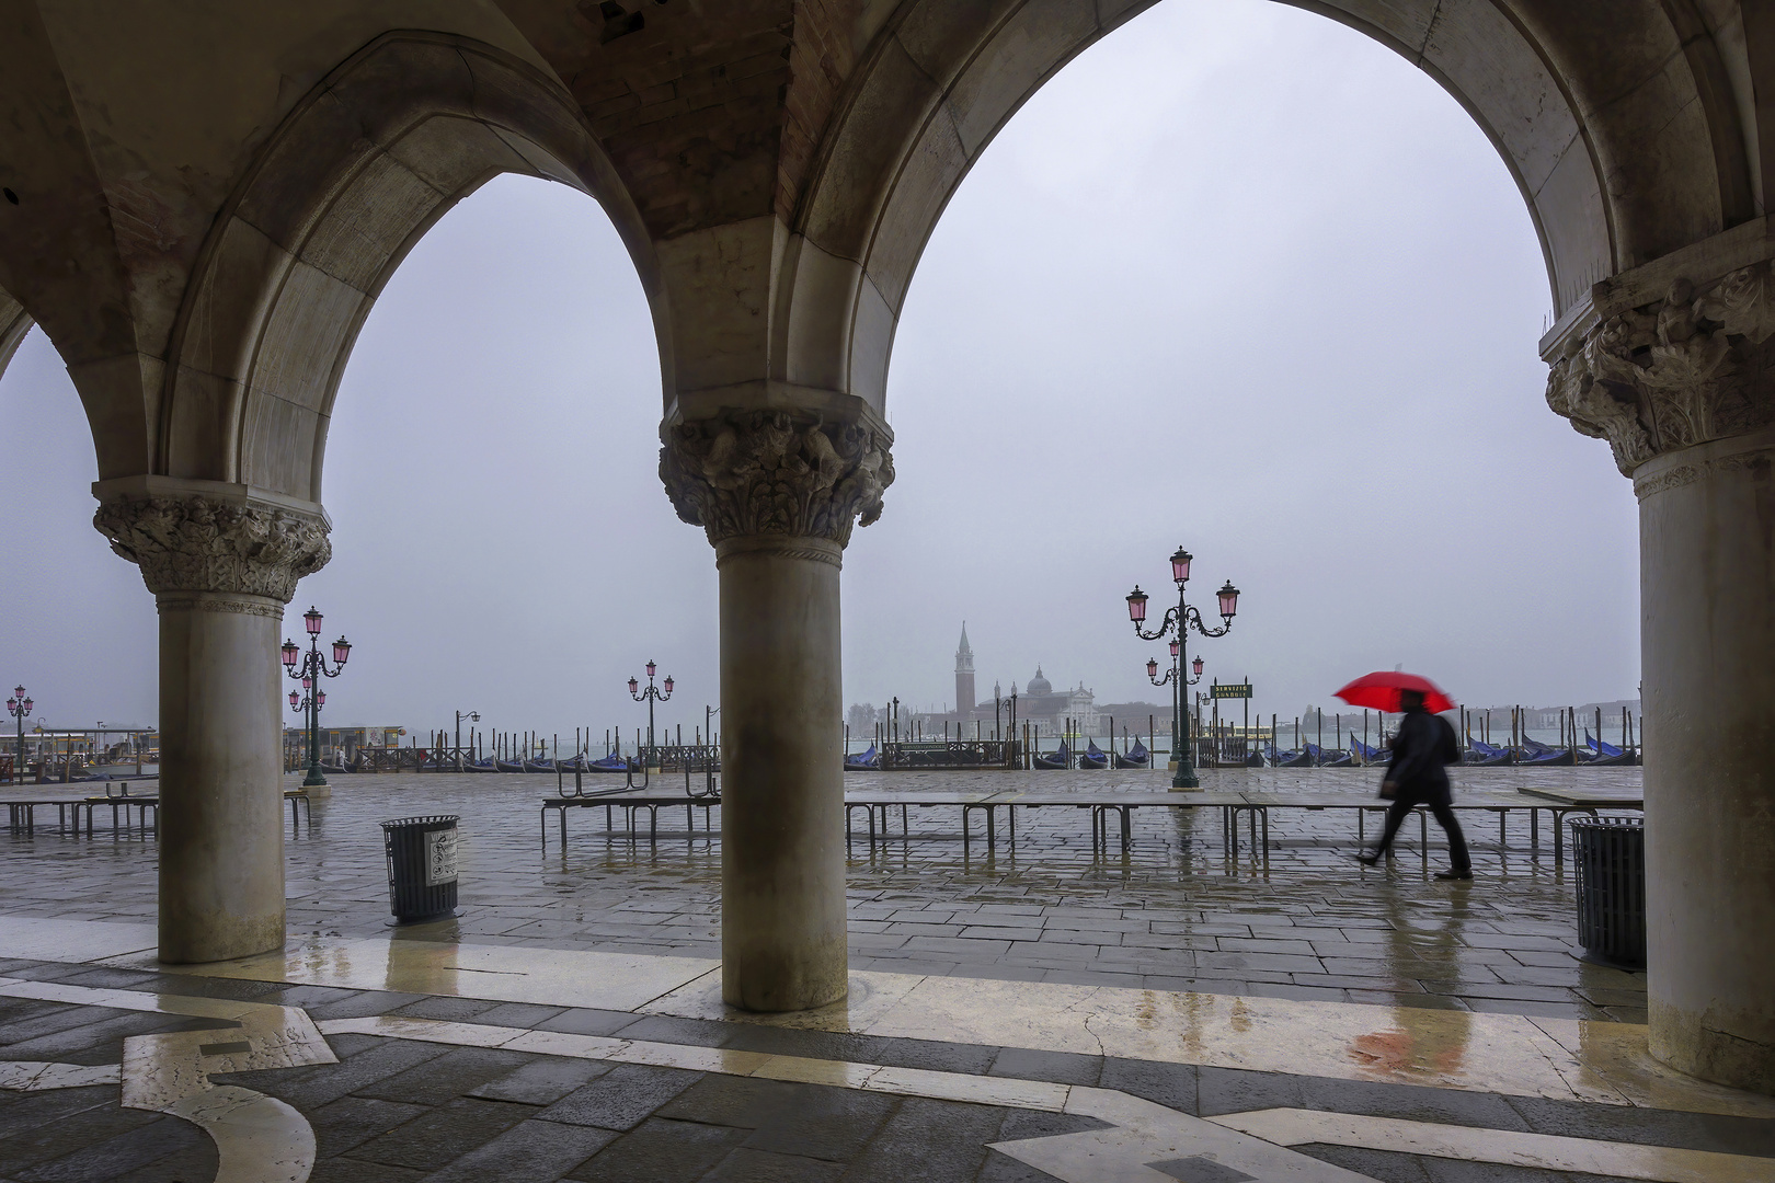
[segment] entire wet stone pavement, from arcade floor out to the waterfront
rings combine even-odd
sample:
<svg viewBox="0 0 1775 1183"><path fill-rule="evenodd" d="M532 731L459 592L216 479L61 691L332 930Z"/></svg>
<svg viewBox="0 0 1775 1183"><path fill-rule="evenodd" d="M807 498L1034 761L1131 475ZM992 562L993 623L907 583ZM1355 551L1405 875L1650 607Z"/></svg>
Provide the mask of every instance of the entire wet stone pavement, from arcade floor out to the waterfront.
<svg viewBox="0 0 1775 1183"><path fill-rule="evenodd" d="M1605 775L1539 780L1637 789L1637 773ZM1221 777L1207 787L1372 787L1372 773ZM852 787L919 780L1063 787L1017 775ZM719 956L719 812L694 834L682 812L662 816L648 842L605 832L602 809L577 811L563 850L552 823L547 839L538 827L552 789L543 777L341 777L288 835L300 951L288 970L156 967L151 835L101 818L92 839L53 821L0 837L0 935L36 949L0 960L0 1183L208 1183L240 1155L259 1158L231 1179L318 1183L1775 1178L1775 1103L1695 1082L1603 1100L1580 1084L1613 1080L1619 1064L1644 1075L1569 1022L1599 1020L1644 1048L1644 983L1573 956L1569 864L1546 834L1532 851L1521 818L1502 846L1495 823L1470 832L1475 881L1441 883L1445 851L1420 851L1415 827L1392 864L1354 864L1347 814L1278 814L1267 851L1228 857L1205 811L1136 812L1124 855L1093 846L1088 811L1021 812L1015 846L1001 830L987 850L978 821L962 844L958 811L911 809L909 835L896 816L893 839L852 844L863 977L848 1018L763 1022L705 1013L698 990L714 990L715 970L683 960ZM362 961L390 938L376 823L431 812L462 814L463 913L394 933L382 977ZM462 945L502 945L485 952L538 977L520 988L472 970ZM401 949L417 968L396 970ZM596 961L614 954L639 954L623 972L657 979L635 995L653 1002L582 997L621 984L600 968L614 961ZM328 974L385 984L316 984ZM882 999L914 974L998 979L1031 1018L989 1025L990 1039L932 1015L893 1034ZM524 990L556 993L511 1000ZM1189 1018L1180 1045L1164 1045L1173 1020L1140 1020L1116 1043L1081 1004L1124 1018L1228 1004L1200 1030L1234 1050L1195 1045ZM1329 1054L1290 1050L1333 1029ZM1161 1050L1141 1050L1154 1038ZM1550 1077L1567 1054L1594 1068ZM261 1109L243 1149L229 1107L248 1101Z"/></svg>

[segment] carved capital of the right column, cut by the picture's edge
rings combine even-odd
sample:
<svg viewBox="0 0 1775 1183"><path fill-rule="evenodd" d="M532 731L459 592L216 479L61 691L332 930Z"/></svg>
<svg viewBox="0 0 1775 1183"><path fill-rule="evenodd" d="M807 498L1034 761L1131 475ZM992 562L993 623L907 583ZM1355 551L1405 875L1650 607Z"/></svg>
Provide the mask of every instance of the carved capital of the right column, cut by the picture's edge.
<svg viewBox="0 0 1775 1183"><path fill-rule="evenodd" d="M1775 422L1775 277L1755 262L1603 317L1566 342L1548 406L1608 440L1621 472Z"/></svg>

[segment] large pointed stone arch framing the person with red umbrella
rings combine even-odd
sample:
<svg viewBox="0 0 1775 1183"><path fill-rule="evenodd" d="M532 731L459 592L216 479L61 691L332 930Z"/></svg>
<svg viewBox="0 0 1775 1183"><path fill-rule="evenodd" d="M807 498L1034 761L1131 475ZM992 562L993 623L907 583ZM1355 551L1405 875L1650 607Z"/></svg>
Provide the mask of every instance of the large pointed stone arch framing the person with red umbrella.
<svg viewBox="0 0 1775 1183"><path fill-rule="evenodd" d="M795 211L777 317L790 381L882 406L895 325L950 195L1042 83L1154 2L914 0L896 12ZM1390 46L1473 115L1528 206L1557 316L1615 271L1757 213L1741 87L1690 0L1612 4L1601 39L1592 5L1283 2Z"/></svg>

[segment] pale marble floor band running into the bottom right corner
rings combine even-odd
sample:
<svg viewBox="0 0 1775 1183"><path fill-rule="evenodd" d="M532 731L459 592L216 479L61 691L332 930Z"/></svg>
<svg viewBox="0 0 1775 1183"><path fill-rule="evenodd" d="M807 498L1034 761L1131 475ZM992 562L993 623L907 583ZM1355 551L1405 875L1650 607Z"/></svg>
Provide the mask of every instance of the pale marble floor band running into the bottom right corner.
<svg viewBox="0 0 1775 1183"><path fill-rule="evenodd" d="M1282 1146L1324 1142L1400 1155L1429 1155L1541 1171L1576 1171L1656 1183L1770 1183L1775 1158L1596 1139L1448 1126L1400 1117L1360 1117L1308 1109L1260 1109L1212 1117Z"/></svg>

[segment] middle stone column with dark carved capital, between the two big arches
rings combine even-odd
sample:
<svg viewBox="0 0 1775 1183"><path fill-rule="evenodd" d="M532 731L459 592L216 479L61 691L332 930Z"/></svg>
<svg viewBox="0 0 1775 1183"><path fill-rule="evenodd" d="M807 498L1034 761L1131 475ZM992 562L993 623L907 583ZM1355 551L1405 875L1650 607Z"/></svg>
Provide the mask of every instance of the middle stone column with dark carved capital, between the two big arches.
<svg viewBox="0 0 1775 1183"><path fill-rule="evenodd" d="M730 1006L845 997L838 568L893 481L886 424L726 410L662 429L660 479L721 571L721 979Z"/></svg>

